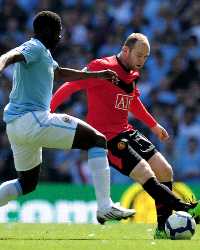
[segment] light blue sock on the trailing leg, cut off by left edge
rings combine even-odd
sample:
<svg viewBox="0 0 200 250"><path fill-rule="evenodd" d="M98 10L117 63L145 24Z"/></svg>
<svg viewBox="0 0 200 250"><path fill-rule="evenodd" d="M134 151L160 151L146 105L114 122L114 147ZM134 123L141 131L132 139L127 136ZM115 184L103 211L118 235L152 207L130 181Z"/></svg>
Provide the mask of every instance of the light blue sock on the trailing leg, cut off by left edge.
<svg viewBox="0 0 200 250"><path fill-rule="evenodd" d="M4 206L10 200L22 195L22 188L18 179L6 181L0 185L0 206Z"/></svg>

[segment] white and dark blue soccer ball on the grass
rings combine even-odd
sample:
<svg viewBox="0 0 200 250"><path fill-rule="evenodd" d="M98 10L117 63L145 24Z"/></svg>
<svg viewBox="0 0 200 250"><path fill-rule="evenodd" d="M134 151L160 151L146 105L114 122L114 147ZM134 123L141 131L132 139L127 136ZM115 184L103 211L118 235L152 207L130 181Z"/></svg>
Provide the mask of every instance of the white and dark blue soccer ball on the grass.
<svg viewBox="0 0 200 250"><path fill-rule="evenodd" d="M183 211L174 212L165 223L165 232L172 240L190 240L195 229L194 218Z"/></svg>

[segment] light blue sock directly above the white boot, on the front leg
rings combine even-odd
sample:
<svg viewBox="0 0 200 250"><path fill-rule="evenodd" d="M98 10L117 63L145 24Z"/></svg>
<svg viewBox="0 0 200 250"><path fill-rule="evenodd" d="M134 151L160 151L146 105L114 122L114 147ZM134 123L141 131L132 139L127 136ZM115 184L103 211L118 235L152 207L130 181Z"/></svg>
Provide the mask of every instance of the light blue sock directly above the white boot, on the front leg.
<svg viewBox="0 0 200 250"><path fill-rule="evenodd" d="M98 210L106 210L113 204L110 198L110 167L107 151L99 147L88 150L88 166L92 172Z"/></svg>

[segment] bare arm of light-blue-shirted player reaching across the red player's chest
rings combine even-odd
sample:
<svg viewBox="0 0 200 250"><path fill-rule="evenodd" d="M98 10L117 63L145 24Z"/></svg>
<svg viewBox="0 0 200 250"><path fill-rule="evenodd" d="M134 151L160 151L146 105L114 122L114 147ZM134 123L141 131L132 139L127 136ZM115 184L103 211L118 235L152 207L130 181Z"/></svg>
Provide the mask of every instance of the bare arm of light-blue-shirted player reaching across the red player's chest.
<svg viewBox="0 0 200 250"><path fill-rule="evenodd" d="M109 69L91 72L58 67L55 70L55 78L63 79L64 81L75 81L88 78L101 78L114 82L118 81L117 74Z"/></svg>

